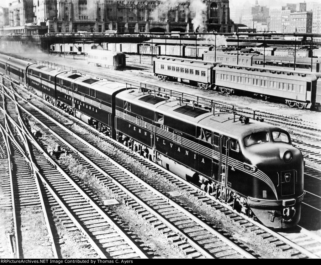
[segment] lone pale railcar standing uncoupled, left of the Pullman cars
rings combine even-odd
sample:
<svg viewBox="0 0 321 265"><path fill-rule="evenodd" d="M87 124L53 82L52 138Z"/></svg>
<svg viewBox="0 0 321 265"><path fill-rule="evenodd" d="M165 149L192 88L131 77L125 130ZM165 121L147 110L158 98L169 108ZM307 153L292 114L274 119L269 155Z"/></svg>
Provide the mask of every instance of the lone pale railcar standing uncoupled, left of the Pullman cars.
<svg viewBox="0 0 321 265"><path fill-rule="evenodd" d="M96 66L119 69L126 66L126 55L109 50L89 50L87 62Z"/></svg>

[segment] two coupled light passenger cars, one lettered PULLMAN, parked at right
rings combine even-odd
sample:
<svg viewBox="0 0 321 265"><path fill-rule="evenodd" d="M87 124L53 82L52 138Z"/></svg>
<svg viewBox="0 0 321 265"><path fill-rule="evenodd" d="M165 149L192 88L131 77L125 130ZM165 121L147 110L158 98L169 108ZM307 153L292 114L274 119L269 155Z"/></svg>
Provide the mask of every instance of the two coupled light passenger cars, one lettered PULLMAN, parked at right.
<svg viewBox="0 0 321 265"><path fill-rule="evenodd" d="M284 99L292 108L321 109L321 90L317 85L321 82L321 73L165 56L155 58L153 69L160 79L184 79L199 87L214 88L223 93L252 93L265 100L269 97Z"/></svg>

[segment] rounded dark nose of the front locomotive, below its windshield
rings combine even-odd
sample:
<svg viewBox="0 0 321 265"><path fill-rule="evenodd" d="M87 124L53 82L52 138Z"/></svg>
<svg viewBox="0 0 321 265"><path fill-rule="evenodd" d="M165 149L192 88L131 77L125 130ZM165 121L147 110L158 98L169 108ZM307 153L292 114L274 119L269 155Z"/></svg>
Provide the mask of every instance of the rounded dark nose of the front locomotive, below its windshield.
<svg viewBox="0 0 321 265"><path fill-rule="evenodd" d="M303 199L303 157L299 149L284 143L262 143L251 147L250 159L264 175L255 182L247 203L268 227L287 228L300 219Z"/></svg>

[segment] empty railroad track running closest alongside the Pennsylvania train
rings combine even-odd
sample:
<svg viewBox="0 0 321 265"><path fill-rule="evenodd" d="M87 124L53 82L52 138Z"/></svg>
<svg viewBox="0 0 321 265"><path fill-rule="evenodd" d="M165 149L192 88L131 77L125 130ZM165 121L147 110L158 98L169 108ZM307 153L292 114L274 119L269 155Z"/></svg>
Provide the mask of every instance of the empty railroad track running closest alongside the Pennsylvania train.
<svg viewBox="0 0 321 265"><path fill-rule="evenodd" d="M210 225L204 223L200 216L193 214L186 206L178 204L164 192L152 187L151 183L142 181L120 162L108 163L108 156L95 148L90 148L86 141L80 139L59 123L52 119L48 122L48 115L43 116L30 106L24 106L27 114L38 123L41 123L42 131L55 134L57 143L64 149L81 154L85 165L89 170L102 179L103 183L113 192L123 195L122 199L131 208L134 208L147 222L166 234L170 241L178 243L186 255L192 257L223 258L223 257L255 257L239 242L219 232ZM49 128L50 127L50 130ZM96 172L94 171L96 169ZM104 172L108 172L106 175ZM109 183L112 180L113 183ZM166 210L166 211L164 211ZM184 242L184 240L186 242ZM205 240L206 239L206 240Z"/></svg>

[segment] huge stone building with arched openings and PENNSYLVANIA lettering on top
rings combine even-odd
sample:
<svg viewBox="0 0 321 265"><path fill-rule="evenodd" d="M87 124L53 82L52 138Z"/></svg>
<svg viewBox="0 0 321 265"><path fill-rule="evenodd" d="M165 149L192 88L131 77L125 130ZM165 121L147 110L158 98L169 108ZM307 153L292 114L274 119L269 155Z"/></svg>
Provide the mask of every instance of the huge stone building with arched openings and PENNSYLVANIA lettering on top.
<svg viewBox="0 0 321 265"><path fill-rule="evenodd" d="M49 32L232 32L228 0L57 0ZM195 5L195 6L194 6Z"/></svg>

